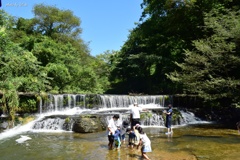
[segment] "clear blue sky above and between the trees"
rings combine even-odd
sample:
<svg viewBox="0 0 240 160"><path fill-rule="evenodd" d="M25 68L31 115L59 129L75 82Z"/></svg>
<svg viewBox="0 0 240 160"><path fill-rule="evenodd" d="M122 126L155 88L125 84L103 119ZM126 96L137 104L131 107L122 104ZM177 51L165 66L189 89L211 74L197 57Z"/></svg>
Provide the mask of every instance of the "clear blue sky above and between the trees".
<svg viewBox="0 0 240 160"><path fill-rule="evenodd" d="M142 0L1 0L1 9L16 17L33 18L33 6L45 4L71 10L80 18L81 38L90 54L120 50L142 14Z"/></svg>

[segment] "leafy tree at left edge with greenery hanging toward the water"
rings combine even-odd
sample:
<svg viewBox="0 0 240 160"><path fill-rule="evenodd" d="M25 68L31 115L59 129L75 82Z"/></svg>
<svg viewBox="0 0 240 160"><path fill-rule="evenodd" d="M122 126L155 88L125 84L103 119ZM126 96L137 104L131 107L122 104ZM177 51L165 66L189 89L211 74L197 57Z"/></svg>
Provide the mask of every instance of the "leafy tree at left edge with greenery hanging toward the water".
<svg viewBox="0 0 240 160"><path fill-rule="evenodd" d="M15 114L19 110L19 92L43 91L48 78L36 57L11 41L12 27L6 23L9 17L1 17L4 23L0 27L0 91L2 110L9 114L14 125Z"/></svg>

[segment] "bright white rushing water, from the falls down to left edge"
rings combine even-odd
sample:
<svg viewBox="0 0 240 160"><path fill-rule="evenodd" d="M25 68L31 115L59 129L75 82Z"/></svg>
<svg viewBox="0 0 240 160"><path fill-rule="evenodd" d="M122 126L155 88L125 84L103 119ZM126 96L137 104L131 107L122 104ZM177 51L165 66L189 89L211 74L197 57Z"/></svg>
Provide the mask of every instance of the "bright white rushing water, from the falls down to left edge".
<svg viewBox="0 0 240 160"><path fill-rule="evenodd" d="M64 108L64 96L67 97L67 105L65 104ZM77 98L78 97L78 98ZM40 114L35 115L36 119L29 122L25 125L19 125L12 129L5 130L0 134L0 140L8 137L12 137L15 135L19 135L26 132L69 132L62 130L61 127L56 127L55 125L62 125L63 121L59 120L55 124L55 120L49 119L46 120L46 123L51 123L54 126L44 126L37 127L41 129L33 129L33 126L39 121L43 120L45 117L51 115L79 115L84 111L88 111L90 113L102 113L102 112L115 112L119 113L120 111L128 111L134 102L138 102L138 105L143 109L151 110L163 110L165 109L165 99L164 96L114 96L114 95L100 95L101 106L98 109L85 109L85 96L84 95L53 95L50 96L50 102L45 102L45 104L41 101L41 105L39 107ZM83 101L84 107L79 107L77 103ZM45 108L44 108L45 107ZM42 111L47 113L42 113ZM202 123L202 121L195 117L191 112L183 112L181 111L183 116L183 124L193 124L193 123ZM120 117L122 119L122 117ZM145 120L147 125L143 125L143 127L164 127L163 117L161 115L153 114L151 118ZM40 125L40 124L39 124ZM41 125L43 125L41 123ZM54 129L52 129L52 127ZM26 137L25 137L26 138Z"/></svg>

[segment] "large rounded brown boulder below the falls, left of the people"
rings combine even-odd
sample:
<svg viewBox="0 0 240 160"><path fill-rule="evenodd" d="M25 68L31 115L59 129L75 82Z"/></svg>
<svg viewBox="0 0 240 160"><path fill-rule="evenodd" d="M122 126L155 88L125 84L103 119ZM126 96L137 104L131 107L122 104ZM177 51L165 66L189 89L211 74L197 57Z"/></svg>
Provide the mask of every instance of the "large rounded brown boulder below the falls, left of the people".
<svg viewBox="0 0 240 160"><path fill-rule="evenodd" d="M72 130L77 133L94 133L106 129L106 120L101 115L80 115L74 121Z"/></svg>

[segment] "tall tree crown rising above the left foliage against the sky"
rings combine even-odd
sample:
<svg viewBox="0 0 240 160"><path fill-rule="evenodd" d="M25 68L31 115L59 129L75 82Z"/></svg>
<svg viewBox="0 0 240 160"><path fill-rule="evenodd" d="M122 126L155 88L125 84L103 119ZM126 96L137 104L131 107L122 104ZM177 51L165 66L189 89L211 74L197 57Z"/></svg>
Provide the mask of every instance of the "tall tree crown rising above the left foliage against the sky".
<svg viewBox="0 0 240 160"><path fill-rule="evenodd" d="M60 10L54 6L37 4L33 8L35 14L37 31L53 36L61 33L71 36L79 36L81 33L80 19L73 15L70 10Z"/></svg>

